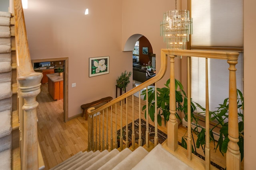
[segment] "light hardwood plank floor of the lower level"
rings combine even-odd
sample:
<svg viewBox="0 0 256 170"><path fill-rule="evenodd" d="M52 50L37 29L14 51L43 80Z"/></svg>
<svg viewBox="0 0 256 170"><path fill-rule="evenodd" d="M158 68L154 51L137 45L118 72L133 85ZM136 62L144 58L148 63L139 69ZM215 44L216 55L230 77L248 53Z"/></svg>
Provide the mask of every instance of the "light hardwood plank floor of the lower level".
<svg viewBox="0 0 256 170"><path fill-rule="evenodd" d="M87 149L88 145L88 124L84 117L77 117L68 122L64 122L63 116L63 100L54 101L47 90L47 84L42 84L41 93L37 97L39 102L38 106L38 139L42 154L44 157L45 170L56 166L72 155L79 151L84 151ZM132 97L128 98L128 112L132 110L130 103ZM138 98L134 97L134 113L138 113ZM144 101L141 103L141 108L144 105ZM112 108L113 113L120 112L120 104L117 104L117 111L115 111L115 106ZM110 111L108 111L110 114ZM122 126L126 125L126 105L123 103L122 109ZM115 114L112 115L113 121L115 119ZM110 115L109 115L110 116ZM106 114L105 116L106 117ZM139 116L135 115L134 119ZM141 117L144 119L144 112L141 112ZM120 117L117 118L120 122ZM132 116L128 115L128 123L132 120ZM154 125L152 121L150 124ZM108 127L110 126L110 120L108 121ZM114 127L113 127L114 128ZM106 133L106 123L104 127L104 133ZM117 129L120 129L120 123L117 125ZM159 127L161 131L167 133L167 128ZM110 128L108 128L110 131ZM114 131L114 130L113 130ZM179 141L181 137L186 133L186 128L179 127ZM106 136L105 136L106 137ZM108 139L110 141L110 139ZM211 143L211 159L218 165L225 167L225 157L220 154L220 152L214 151L214 146ZM202 150L197 149L197 151L203 155Z"/></svg>

